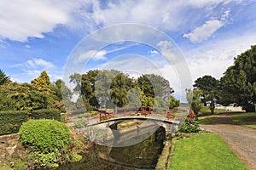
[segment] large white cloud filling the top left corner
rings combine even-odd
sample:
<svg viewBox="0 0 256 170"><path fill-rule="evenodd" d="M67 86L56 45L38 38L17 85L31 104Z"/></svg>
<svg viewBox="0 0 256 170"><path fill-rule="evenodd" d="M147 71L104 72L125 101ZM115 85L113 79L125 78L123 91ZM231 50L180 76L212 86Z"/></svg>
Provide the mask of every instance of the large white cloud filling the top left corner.
<svg viewBox="0 0 256 170"><path fill-rule="evenodd" d="M68 15L52 1L0 1L0 38L26 42L27 37L44 37Z"/></svg>

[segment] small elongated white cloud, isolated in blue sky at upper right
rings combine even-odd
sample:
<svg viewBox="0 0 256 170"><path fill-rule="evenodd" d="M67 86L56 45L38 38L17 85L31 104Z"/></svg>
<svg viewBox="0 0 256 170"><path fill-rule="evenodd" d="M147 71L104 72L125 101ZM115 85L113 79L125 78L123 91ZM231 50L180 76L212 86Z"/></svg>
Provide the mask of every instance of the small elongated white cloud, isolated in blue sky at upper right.
<svg viewBox="0 0 256 170"><path fill-rule="evenodd" d="M189 34L184 34L183 37L189 38L191 42L202 42L218 30L224 23L220 20L207 20L204 25L195 28Z"/></svg>

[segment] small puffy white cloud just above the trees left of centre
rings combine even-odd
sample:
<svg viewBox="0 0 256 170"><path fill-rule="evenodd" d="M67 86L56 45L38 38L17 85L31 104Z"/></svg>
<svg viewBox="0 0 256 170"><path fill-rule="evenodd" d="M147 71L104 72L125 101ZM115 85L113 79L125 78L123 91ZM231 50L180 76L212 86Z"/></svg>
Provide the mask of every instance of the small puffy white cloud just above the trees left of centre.
<svg viewBox="0 0 256 170"><path fill-rule="evenodd" d="M90 50L85 52L84 54L80 54L78 58L78 62L87 61L88 59L104 60L104 59L107 59L105 56L106 54L107 54L106 50L101 50L101 51Z"/></svg>

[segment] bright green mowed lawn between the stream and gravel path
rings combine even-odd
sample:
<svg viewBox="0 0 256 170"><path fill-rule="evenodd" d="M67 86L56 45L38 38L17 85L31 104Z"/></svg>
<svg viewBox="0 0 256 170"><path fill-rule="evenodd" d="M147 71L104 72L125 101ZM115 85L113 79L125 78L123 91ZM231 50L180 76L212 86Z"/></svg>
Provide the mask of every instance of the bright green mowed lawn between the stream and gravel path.
<svg viewBox="0 0 256 170"><path fill-rule="evenodd" d="M172 154L171 169L249 169L216 133L178 140Z"/></svg>

